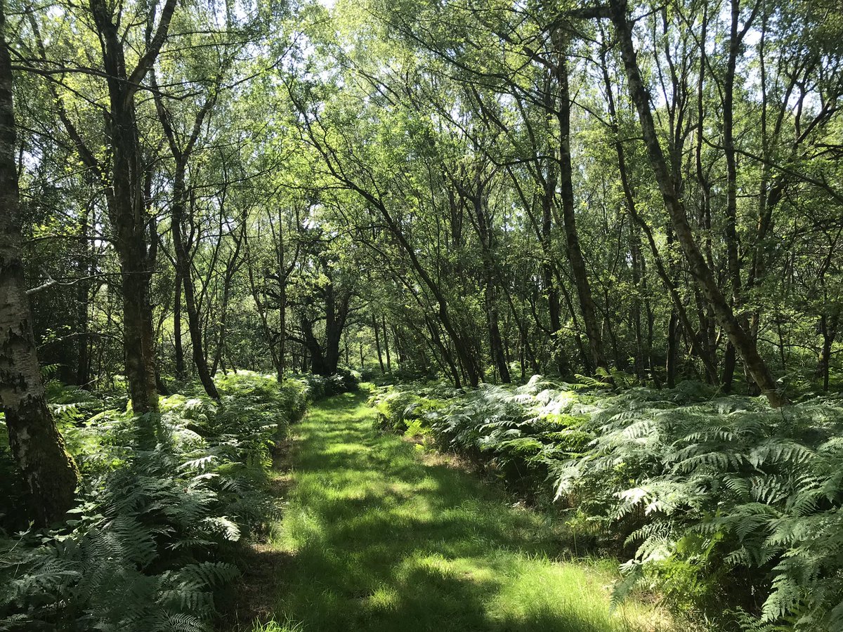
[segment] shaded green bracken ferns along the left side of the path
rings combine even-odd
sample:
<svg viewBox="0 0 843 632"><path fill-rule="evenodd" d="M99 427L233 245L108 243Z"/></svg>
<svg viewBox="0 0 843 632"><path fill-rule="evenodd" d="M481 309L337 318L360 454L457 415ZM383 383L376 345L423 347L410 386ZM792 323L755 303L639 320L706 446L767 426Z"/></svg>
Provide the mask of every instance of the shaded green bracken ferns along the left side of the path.
<svg viewBox="0 0 843 632"><path fill-rule="evenodd" d="M235 543L266 528L271 444L303 414L303 383L250 372L206 397L162 400L169 441L134 448L131 415L107 410L66 435L83 470L72 520L0 540L0 629L207 629L239 575ZM56 405L56 404L53 404Z"/></svg>

